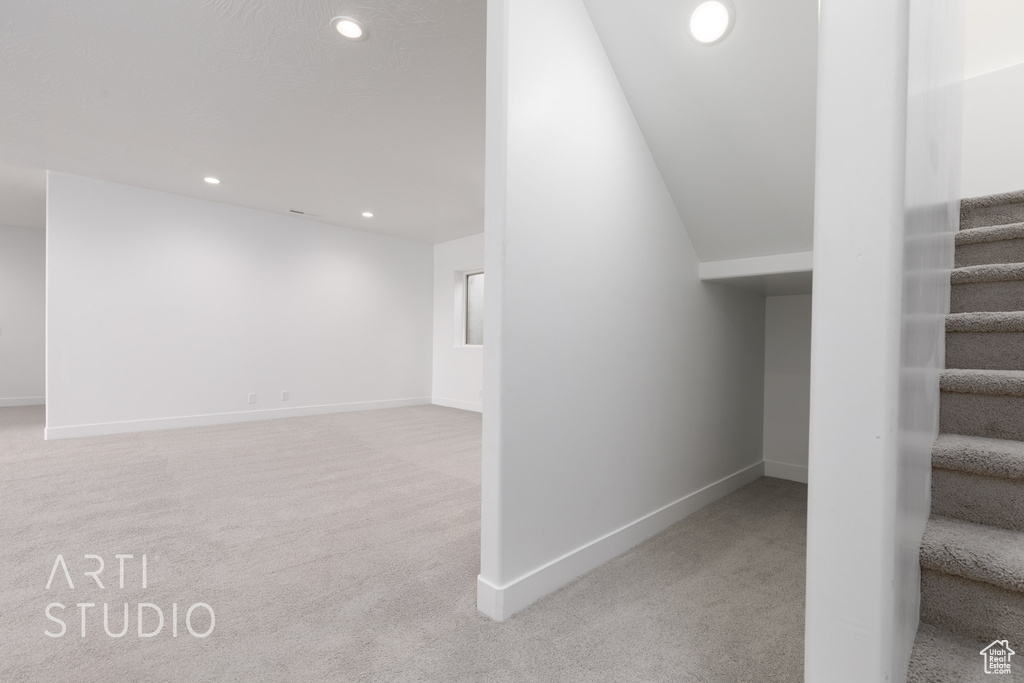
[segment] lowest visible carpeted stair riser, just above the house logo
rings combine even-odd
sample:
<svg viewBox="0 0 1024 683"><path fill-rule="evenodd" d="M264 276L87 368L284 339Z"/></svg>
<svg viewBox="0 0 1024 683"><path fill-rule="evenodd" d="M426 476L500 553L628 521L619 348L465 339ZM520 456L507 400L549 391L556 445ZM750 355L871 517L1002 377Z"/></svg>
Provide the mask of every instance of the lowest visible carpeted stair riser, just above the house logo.
<svg viewBox="0 0 1024 683"><path fill-rule="evenodd" d="M921 570L921 621L986 642L1024 635L1024 593Z"/></svg>

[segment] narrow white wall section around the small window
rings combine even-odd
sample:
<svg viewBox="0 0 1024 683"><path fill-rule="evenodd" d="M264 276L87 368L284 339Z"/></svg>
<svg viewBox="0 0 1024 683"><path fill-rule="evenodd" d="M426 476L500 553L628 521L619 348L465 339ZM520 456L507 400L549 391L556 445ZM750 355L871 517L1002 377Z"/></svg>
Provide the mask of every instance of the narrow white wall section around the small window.
<svg viewBox="0 0 1024 683"><path fill-rule="evenodd" d="M434 245L433 401L438 405L482 410L483 348L467 346L463 334L465 273L482 267L482 232Z"/></svg>

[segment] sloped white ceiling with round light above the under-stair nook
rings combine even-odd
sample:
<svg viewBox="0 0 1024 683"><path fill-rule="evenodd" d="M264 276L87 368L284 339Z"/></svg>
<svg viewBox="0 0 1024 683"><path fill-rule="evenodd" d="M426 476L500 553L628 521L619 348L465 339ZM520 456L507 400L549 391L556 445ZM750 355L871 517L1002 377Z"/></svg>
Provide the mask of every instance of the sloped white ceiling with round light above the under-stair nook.
<svg viewBox="0 0 1024 683"><path fill-rule="evenodd" d="M584 0L701 261L809 251L816 0L733 0L716 45L697 0Z"/></svg>

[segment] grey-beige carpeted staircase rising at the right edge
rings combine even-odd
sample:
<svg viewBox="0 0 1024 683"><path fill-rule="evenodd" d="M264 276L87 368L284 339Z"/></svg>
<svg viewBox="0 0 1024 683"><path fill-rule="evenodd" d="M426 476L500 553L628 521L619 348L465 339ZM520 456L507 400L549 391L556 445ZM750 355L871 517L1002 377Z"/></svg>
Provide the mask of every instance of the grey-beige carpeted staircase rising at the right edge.
<svg viewBox="0 0 1024 683"><path fill-rule="evenodd" d="M911 683L1024 681L1024 191L961 203Z"/></svg>

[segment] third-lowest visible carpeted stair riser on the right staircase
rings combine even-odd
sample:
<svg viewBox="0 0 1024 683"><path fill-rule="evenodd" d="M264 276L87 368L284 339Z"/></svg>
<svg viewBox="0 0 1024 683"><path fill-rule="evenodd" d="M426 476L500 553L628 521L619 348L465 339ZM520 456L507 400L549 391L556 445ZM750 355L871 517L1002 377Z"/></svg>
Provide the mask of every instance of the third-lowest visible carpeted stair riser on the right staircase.
<svg viewBox="0 0 1024 683"><path fill-rule="evenodd" d="M939 429L947 434L1024 440L1024 397L943 391Z"/></svg>

